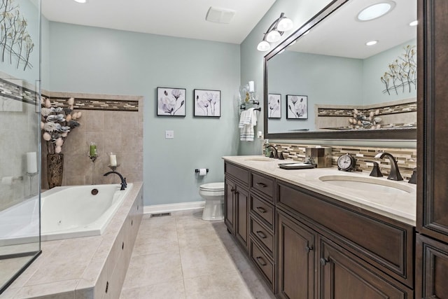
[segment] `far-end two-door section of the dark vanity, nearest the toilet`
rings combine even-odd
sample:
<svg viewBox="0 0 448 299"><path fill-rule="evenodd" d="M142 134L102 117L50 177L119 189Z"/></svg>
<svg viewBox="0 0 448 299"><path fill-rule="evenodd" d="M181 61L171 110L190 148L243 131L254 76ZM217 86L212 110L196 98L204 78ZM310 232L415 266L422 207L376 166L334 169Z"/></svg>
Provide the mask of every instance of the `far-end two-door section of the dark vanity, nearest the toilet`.
<svg viewBox="0 0 448 299"><path fill-rule="evenodd" d="M225 163L224 221L248 251L248 169Z"/></svg>

